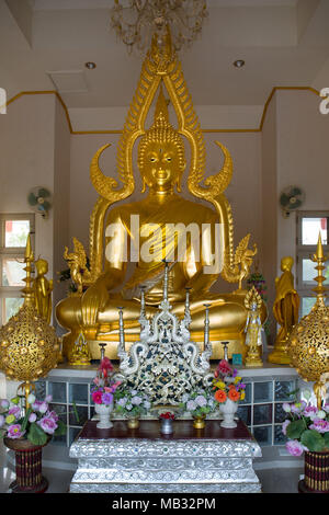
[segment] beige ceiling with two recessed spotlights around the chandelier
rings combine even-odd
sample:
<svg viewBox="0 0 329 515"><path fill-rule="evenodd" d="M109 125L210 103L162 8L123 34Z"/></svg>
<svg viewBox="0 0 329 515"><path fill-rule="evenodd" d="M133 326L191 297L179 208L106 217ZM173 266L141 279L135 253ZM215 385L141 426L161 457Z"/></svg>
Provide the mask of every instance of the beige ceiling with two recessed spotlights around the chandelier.
<svg viewBox="0 0 329 515"><path fill-rule="evenodd" d="M0 0L0 87L8 98L57 83L69 108L128 105L141 57L128 55L111 30L113 2ZM207 3L202 36L180 53L195 105L264 105L273 87L318 85L327 76L321 87L329 85L328 0ZM235 68L236 59L246 66Z"/></svg>

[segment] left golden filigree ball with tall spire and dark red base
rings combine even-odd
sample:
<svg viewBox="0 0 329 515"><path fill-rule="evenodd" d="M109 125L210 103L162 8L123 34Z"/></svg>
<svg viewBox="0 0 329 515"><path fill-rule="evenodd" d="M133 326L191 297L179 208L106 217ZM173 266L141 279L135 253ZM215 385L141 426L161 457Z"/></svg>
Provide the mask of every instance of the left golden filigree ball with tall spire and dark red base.
<svg viewBox="0 0 329 515"><path fill-rule="evenodd" d="M59 345L54 328L39 316L35 306L32 287L33 253L30 234L25 250L24 304L18 314L11 317L0 329L0 369L8 379L22 380L19 390L25 394L25 410L29 409L29 396L35 390L34 381L45 377L57 366ZM50 436L49 436L50 439ZM15 453L16 479L10 489L15 493L42 493L47 480L42 476L42 447L33 445L27 438L4 438L4 445Z"/></svg>

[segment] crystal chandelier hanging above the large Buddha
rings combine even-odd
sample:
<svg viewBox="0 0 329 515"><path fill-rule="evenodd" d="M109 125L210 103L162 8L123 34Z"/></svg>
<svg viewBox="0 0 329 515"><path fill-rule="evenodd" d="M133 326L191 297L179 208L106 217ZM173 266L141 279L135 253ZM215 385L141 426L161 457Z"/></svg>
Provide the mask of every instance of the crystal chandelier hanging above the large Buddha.
<svg viewBox="0 0 329 515"><path fill-rule="evenodd" d="M206 0L114 0L111 21L129 52L145 52L155 33L161 45L168 25L172 44L179 50L201 33L207 14Z"/></svg>

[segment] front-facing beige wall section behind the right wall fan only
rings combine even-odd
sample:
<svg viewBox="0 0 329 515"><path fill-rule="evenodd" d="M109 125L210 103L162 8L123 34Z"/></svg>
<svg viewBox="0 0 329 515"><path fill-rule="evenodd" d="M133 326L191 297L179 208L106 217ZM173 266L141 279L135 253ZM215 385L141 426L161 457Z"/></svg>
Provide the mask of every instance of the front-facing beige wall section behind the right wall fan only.
<svg viewBox="0 0 329 515"><path fill-rule="evenodd" d="M329 115L319 112L320 100L307 91L276 93L277 196L286 186L300 186L303 210L329 210ZM283 218L277 207L277 260L295 256L295 214Z"/></svg>

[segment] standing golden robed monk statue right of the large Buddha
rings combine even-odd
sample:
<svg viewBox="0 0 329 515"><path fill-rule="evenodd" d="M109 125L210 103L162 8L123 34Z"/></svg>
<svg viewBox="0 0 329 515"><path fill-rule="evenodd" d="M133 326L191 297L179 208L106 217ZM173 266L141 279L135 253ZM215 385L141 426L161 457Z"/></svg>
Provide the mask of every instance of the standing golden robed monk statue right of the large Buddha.
<svg viewBox="0 0 329 515"><path fill-rule="evenodd" d="M275 279L276 297L273 313L281 328L276 335L274 351L269 355L269 362L277 365L288 365L291 363L287 342L292 329L298 322L299 296L294 287L293 264L293 258L282 258L281 270L283 274Z"/></svg>

